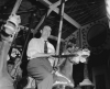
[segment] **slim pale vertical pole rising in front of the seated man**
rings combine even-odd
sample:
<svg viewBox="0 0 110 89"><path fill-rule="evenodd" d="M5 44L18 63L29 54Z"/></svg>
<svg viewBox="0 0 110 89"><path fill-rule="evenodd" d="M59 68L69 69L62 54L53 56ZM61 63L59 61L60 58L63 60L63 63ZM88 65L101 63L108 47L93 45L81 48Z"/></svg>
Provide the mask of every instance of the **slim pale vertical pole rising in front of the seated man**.
<svg viewBox="0 0 110 89"><path fill-rule="evenodd" d="M59 47L61 47L61 37L62 37L62 29L63 29L63 18L64 18L64 8L65 8L65 0L62 0L61 2L61 21L59 21L59 30L58 30L58 40L56 45L56 55L59 55ZM55 67L57 66L58 59L55 62Z"/></svg>

